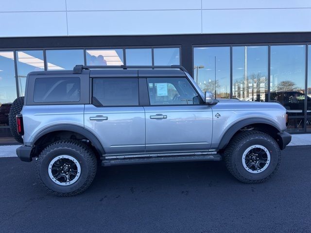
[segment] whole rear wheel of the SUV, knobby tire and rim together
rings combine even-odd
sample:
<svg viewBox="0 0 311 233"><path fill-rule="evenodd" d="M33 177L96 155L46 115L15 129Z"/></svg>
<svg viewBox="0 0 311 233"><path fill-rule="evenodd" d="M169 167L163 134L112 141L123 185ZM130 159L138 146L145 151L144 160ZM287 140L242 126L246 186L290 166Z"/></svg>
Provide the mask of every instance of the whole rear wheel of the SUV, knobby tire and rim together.
<svg viewBox="0 0 311 233"><path fill-rule="evenodd" d="M60 140L44 149L36 160L39 182L58 196L82 193L92 183L97 160L94 152L76 140Z"/></svg>

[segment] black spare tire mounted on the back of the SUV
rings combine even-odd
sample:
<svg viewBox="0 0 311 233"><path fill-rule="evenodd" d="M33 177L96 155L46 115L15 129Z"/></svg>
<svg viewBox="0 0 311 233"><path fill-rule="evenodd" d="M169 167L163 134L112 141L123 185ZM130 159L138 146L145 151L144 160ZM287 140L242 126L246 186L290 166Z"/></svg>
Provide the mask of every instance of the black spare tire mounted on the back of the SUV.
<svg viewBox="0 0 311 233"><path fill-rule="evenodd" d="M10 130L12 133L12 136L17 140L17 142L24 143L23 138L21 135L17 133L17 128L16 128L16 115L20 114L20 111L22 110L24 105L24 97L18 97L16 100L11 105L11 109L9 112L9 125L10 125Z"/></svg>

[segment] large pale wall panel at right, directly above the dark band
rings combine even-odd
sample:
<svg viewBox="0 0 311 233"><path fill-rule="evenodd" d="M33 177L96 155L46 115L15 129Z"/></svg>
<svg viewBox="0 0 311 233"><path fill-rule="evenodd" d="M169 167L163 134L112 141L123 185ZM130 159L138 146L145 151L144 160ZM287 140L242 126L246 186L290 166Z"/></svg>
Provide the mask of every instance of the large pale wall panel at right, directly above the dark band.
<svg viewBox="0 0 311 233"><path fill-rule="evenodd" d="M202 33L311 32L311 9L203 10Z"/></svg>

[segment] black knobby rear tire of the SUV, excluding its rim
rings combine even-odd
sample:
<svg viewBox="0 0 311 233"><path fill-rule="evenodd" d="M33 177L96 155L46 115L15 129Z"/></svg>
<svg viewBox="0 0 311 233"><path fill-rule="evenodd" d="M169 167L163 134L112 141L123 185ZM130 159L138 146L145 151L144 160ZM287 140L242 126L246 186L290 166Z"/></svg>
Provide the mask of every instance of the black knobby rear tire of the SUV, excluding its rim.
<svg viewBox="0 0 311 233"><path fill-rule="evenodd" d="M59 155L74 157L81 166L79 179L70 185L62 186L54 183L49 176L49 164ZM39 183L48 192L58 196L73 196L82 193L92 183L96 170L97 160L91 148L78 140L59 140L46 147L36 160L37 178Z"/></svg>

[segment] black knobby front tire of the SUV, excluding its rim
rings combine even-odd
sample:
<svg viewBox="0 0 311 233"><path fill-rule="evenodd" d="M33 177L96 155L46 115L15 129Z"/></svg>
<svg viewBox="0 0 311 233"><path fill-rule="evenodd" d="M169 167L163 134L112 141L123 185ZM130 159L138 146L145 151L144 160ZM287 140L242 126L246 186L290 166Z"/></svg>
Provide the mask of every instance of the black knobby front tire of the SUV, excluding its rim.
<svg viewBox="0 0 311 233"><path fill-rule="evenodd" d="M270 152L271 160L265 170L256 174L248 172L242 165L244 151L253 146L264 146ZM279 167L281 152L276 140L266 133L245 131L235 135L225 149L225 164L229 172L243 183L261 183L269 180Z"/></svg>

